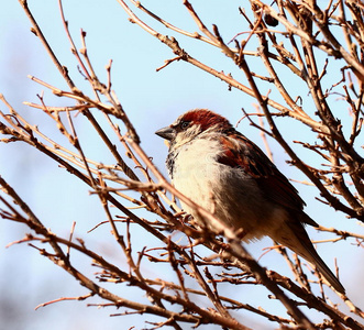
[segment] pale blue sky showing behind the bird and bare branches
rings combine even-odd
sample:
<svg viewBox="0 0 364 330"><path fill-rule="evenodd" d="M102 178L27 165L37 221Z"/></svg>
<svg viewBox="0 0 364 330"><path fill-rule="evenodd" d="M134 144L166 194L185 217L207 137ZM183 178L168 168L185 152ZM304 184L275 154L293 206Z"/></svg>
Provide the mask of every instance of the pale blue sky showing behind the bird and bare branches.
<svg viewBox="0 0 364 330"><path fill-rule="evenodd" d="M197 31L181 1L145 1L143 4L175 25L191 32ZM199 0L192 1L192 4L207 26L210 28L212 23L218 24L225 40L232 38L236 32L244 31L244 22L238 12L241 1L210 0L207 7L206 1ZM59 61L68 67L74 80L80 82L79 87L89 90L79 76L74 56L69 52L57 1L33 0L29 1L29 6ZM186 63L174 63L156 73L156 68L161 67L165 59L173 58L174 54L136 24L131 24L115 0L67 0L64 1L64 9L78 48L81 46L80 29L87 32L88 52L101 80L106 81L104 66L110 58L113 59L113 89L139 130L144 150L153 156L161 169L164 170L167 150L154 132L169 124L180 113L192 108L209 108L222 113L232 123L236 123L243 116L241 108L247 112L255 111L253 99L236 90L229 91L224 82ZM135 8L132 10L137 12ZM37 102L36 94L44 90L42 86L26 78L26 75L33 75L53 86L67 89L38 40L30 32L30 26L19 2L4 1L0 12L0 92L25 118L37 123L41 130L58 138L55 125L43 113L22 105L23 101ZM154 22L152 26L168 35L176 35ZM234 77L244 80L243 74L236 72L231 61L218 50L187 37L178 35L176 37L187 51L192 50L191 56L212 65L218 70L232 72ZM254 69L260 72L260 66L257 62L257 67ZM299 94L298 82L297 90ZM66 100L52 96L47 90L45 97L52 106L68 105ZM3 105L0 105L0 109L5 111ZM307 133L293 122L282 121L279 125L288 140L304 140ZM263 147L260 132L251 128L247 120L240 123L239 130ZM81 136L88 136L81 140L81 143L92 158L110 160L103 150L97 147L97 139L91 133L88 135L87 125L80 124L79 132ZM305 179L295 168L286 165L287 156L277 144L272 141L269 143L275 162L282 172L288 177ZM300 153L305 155L305 151ZM64 233L66 237L71 222L77 221L78 237L85 237L91 242L100 241L98 235L102 230L97 233L86 233L104 219L96 197L89 197L88 187L57 168L57 165L44 155L25 145L0 144L0 174L18 189L44 224L54 232ZM57 193L53 189L54 186L58 187ZM346 220L342 213L322 207L315 199L317 190L302 185L296 187L308 205L307 212L319 223L349 231L360 230L355 221ZM54 266L25 244L4 249L9 242L22 239L24 233L29 232L26 228L0 220L0 318L2 323L7 324L7 329L45 330L51 327L53 330L128 329L134 324L140 329L144 326L143 321L146 317L109 318L109 314L114 310L87 308L87 302L63 301L34 311L34 307L38 304L65 296L82 295L86 290L63 270ZM112 240L109 230L106 229L103 232L106 254L114 257L108 245L108 241ZM330 238L330 235L317 235L312 229L309 229L309 233L313 239ZM268 240L263 240L249 245L247 249L258 256L262 249L269 244ZM319 246L319 253L331 268L333 257L339 256L342 283L348 287L354 302L363 302L362 293L357 290L357 287L363 286L361 275L364 271L363 263L359 262L362 261L363 253L354 245L342 242L324 245L321 249ZM263 265L273 268L276 266L275 262L273 253L261 260ZM279 266L286 267L286 265ZM280 268L277 271L279 272ZM252 293L255 295L254 289L245 289L240 294ZM256 321L258 322L256 324L260 324L262 319ZM250 322L253 327L255 320ZM264 324L272 327L272 323Z"/></svg>

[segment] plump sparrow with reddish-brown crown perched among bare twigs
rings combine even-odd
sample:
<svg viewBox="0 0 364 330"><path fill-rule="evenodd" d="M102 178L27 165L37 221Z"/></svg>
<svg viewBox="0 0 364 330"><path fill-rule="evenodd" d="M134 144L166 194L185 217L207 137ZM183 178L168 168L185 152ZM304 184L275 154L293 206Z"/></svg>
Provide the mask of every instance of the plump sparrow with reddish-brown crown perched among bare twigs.
<svg viewBox="0 0 364 330"><path fill-rule="evenodd" d="M305 230L306 224L318 223L305 213L306 204L296 188L228 119L196 109L155 133L169 141L166 165L176 189L243 232L243 241L269 237L313 264L337 292L345 293ZM181 205L205 226L196 210Z"/></svg>

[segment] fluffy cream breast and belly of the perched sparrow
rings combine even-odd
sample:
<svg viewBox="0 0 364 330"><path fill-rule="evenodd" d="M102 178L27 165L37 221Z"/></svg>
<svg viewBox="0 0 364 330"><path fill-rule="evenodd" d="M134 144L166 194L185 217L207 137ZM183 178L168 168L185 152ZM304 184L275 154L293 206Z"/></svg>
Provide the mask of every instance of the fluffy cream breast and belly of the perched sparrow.
<svg viewBox="0 0 364 330"><path fill-rule="evenodd" d="M247 239L260 238L266 226L276 227L283 220L277 217L279 210L242 168L219 163L221 152L221 145L213 140L201 139L180 146L173 161L173 184L223 222L246 230Z"/></svg>

